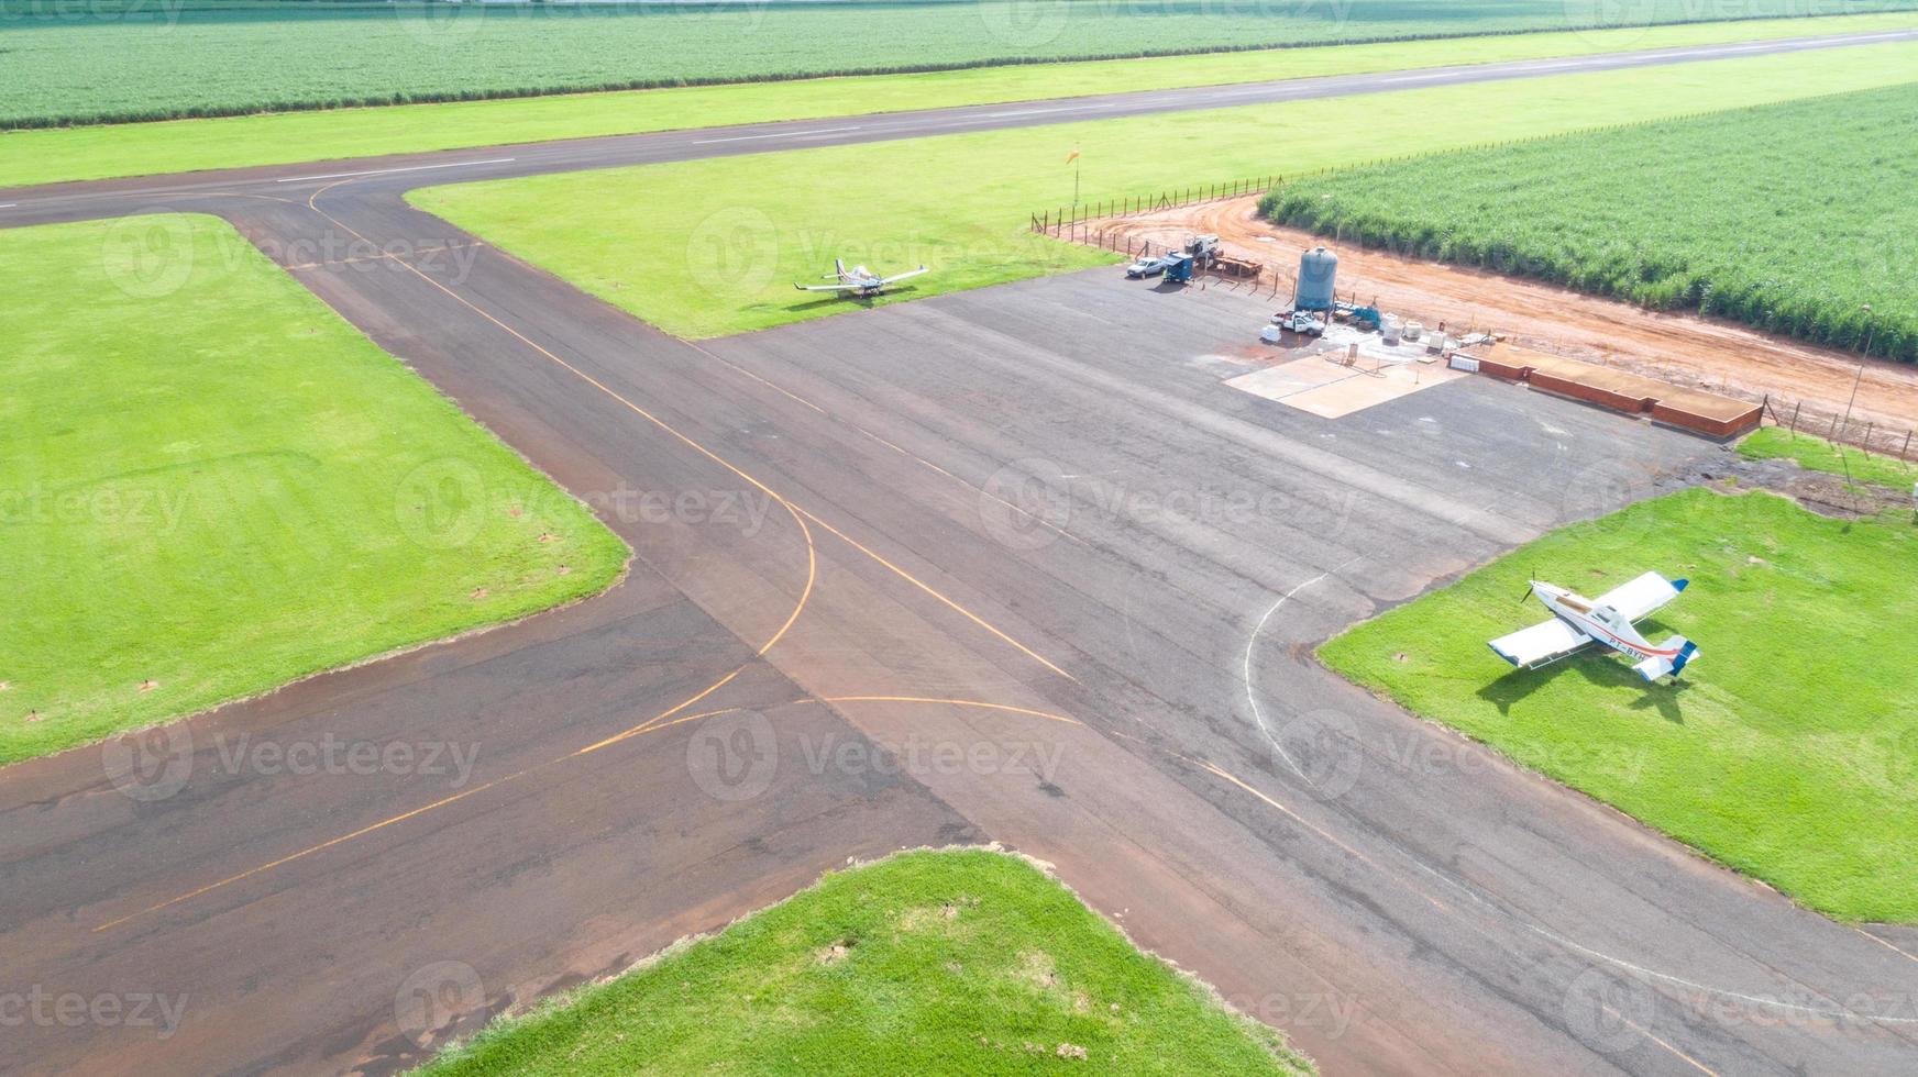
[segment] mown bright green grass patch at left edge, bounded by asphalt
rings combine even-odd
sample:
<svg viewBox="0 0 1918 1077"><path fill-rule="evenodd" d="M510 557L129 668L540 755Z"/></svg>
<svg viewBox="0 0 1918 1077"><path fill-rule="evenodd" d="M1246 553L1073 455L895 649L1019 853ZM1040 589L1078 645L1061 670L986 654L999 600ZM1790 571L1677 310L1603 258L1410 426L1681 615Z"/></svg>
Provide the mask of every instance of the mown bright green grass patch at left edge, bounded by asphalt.
<svg viewBox="0 0 1918 1077"><path fill-rule="evenodd" d="M621 571L585 506L213 217L0 232L0 765Z"/></svg>

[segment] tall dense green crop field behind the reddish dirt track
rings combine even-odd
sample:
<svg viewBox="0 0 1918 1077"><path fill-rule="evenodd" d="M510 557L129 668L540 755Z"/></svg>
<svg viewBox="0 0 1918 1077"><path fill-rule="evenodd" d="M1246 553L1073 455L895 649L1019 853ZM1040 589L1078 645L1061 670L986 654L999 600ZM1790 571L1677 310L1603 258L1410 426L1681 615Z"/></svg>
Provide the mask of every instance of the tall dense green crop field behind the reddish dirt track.
<svg viewBox="0 0 1918 1077"><path fill-rule="evenodd" d="M1918 201L1903 197L1918 184L1914 123L1918 84L1891 86L1352 169L1291 184L1264 211L1918 362Z"/></svg>

